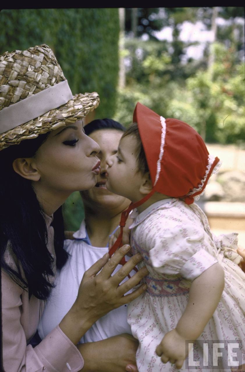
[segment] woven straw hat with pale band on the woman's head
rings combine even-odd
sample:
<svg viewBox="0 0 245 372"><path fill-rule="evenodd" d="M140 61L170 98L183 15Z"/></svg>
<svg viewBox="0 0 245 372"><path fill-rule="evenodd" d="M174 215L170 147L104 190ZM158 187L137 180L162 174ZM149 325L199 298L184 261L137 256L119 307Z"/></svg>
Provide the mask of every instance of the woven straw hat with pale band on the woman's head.
<svg viewBox="0 0 245 372"><path fill-rule="evenodd" d="M72 95L48 45L0 56L0 150L84 118L98 93Z"/></svg>

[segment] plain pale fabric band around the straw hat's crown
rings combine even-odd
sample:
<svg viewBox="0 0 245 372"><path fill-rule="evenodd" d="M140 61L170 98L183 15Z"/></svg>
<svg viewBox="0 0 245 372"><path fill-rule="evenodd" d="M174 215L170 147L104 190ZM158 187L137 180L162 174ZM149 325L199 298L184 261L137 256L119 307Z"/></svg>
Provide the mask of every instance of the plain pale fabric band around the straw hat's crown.
<svg viewBox="0 0 245 372"><path fill-rule="evenodd" d="M0 134L65 105L73 99L67 80L0 110Z"/></svg>

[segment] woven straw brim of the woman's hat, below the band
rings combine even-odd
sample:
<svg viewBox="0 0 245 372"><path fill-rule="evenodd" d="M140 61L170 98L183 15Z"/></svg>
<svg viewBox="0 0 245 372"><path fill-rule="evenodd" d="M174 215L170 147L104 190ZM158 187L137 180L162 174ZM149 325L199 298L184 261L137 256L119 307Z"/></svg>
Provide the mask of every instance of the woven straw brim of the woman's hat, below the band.
<svg viewBox="0 0 245 372"><path fill-rule="evenodd" d="M100 98L96 92L76 94L73 96L73 100L68 101L65 105L0 134L0 150L10 145L17 145L23 140L36 138L40 134L66 124L73 124L97 108L99 103Z"/></svg>

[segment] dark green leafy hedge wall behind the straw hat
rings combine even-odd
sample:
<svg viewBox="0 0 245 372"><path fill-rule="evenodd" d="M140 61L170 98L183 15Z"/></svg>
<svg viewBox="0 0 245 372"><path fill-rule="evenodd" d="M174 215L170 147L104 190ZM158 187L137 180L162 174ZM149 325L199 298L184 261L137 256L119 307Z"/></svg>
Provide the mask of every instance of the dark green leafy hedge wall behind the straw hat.
<svg viewBox="0 0 245 372"><path fill-rule="evenodd" d="M72 93L98 92L101 105L96 117L113 116L119 71L118 9L1 10L0 30L0 54L49 45Z"/></svg>

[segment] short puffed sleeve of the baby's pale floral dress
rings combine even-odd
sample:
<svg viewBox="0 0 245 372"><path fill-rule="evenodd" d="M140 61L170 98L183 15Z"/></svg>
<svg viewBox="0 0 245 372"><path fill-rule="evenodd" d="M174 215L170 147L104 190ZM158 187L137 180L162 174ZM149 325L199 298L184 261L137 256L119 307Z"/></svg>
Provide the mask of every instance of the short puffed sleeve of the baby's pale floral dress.
<svg viewBox="0 0 245 372"><path fill-rule="evenodd" d="M169 218L163 220L161 215L159 218L156 215L148 219L150 226L145 241L150 243L149 258L158 273L179 274L187 280L194 280L217 262L204 229L188 222L173 223Z"/></svg>

